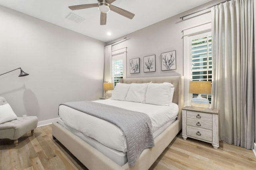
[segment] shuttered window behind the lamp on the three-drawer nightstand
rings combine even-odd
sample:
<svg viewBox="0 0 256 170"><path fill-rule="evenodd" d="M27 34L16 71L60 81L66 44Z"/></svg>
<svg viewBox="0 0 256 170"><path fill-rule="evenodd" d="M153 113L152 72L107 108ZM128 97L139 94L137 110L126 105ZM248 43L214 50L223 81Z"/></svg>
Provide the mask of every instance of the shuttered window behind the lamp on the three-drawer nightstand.
<svg viewBox="0 0 256 170"><path fill-rule="evenodd" d="M212 36L200 34L190 38L192 81L212 82ZM196 97L198 94L192 94ZM211 103L211 95L202 94Z"/></svg>

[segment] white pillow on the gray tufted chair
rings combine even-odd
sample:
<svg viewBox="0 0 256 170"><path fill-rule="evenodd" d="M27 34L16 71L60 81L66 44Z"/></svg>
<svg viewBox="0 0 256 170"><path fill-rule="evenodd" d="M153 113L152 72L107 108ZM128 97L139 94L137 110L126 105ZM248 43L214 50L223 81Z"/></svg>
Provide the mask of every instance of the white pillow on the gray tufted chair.
<svg viewBox="0 0 256 170"><path fill-rule="evenodd" d="M0 124L18 119L16 114L13 112L12 107L7 103L0 106Z"/></svg>

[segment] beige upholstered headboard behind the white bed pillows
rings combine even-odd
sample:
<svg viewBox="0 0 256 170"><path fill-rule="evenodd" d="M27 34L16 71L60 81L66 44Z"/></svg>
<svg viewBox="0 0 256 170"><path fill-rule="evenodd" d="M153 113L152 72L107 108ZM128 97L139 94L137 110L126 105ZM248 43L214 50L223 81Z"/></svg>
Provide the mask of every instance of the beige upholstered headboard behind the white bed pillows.
<svg viewBox="0 0 256 170"><path fill-rule="evenodd" d="M180 120L179 127L182 127L182 107L184 107L184 78L183 76L168 76L168 77L145 77L145 78L124 78L120 79L120 83L163 83L169 82L174 85L174 95L172 102L178 104L179 113L178 120Z"/></svg>

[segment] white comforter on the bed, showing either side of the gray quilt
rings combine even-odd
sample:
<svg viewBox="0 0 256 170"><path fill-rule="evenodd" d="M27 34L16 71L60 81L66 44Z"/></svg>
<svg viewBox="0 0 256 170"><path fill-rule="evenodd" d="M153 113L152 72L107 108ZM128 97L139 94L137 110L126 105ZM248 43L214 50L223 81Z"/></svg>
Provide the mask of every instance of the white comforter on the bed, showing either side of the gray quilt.
<svg viewBox="0 0 256 170"><path fill-rule="evenodd" d="M158 106L111 99L94 102L146 113L152 121L153 133L175 119L178 114L178 105L174 103L170 104L170 106ZM60 105L59 115L69 127L84 133L84 135L97 140L107 147L126 152L124 134L116 125L64 105Z"/></svg>

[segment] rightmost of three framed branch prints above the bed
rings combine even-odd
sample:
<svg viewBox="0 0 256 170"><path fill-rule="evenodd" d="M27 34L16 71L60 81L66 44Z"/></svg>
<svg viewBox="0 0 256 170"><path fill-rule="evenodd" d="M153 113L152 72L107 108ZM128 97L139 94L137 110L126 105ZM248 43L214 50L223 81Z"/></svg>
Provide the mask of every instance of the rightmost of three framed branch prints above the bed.
<svg viewBox="0 0 256 170"><path fill-rule="evenodd" d="M176 51L161 54L162 71L176 69Z"/></svg>

